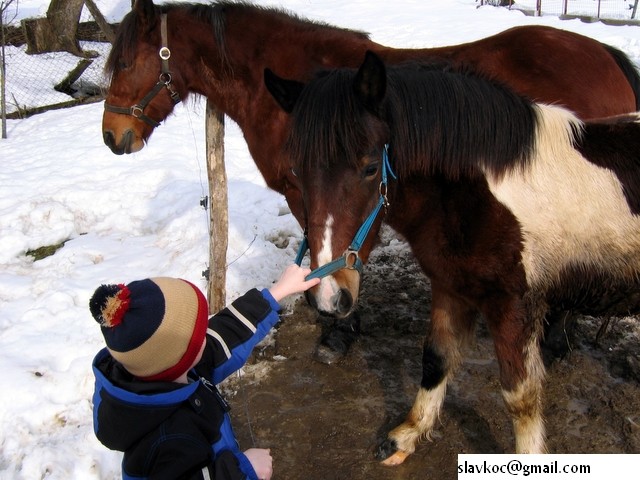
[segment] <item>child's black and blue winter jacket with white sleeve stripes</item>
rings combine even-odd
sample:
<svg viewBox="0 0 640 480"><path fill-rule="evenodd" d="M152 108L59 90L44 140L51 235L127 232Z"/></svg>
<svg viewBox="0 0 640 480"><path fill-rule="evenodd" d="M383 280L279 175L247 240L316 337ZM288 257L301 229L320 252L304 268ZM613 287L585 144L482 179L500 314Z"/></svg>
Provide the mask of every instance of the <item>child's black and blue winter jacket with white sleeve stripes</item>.
<svg viewBox="0 0 640 480"><path fill-rule="evenodd" d="M142 382L106 348L96 355L94 431L106 447L124 452L123 480L257 479L215 385L244 365L279 309L268 290L253 289L210 317L189 384Z"/></svg>

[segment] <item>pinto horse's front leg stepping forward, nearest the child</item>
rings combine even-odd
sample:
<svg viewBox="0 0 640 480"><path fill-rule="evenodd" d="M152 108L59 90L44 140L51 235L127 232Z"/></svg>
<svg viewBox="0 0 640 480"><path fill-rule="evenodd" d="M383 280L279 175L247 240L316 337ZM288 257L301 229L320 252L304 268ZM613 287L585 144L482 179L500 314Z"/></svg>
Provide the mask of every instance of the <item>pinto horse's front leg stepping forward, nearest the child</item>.
<svg viewBox="0 0 640 480"><path fill-rule="evenodd" d="M431 323L422 351L422 381L405 421L378 447L384 465L399 465L429 434L440 413L447 380L461 361L460 347L472 334L477 311L432 285Z"/></svg>

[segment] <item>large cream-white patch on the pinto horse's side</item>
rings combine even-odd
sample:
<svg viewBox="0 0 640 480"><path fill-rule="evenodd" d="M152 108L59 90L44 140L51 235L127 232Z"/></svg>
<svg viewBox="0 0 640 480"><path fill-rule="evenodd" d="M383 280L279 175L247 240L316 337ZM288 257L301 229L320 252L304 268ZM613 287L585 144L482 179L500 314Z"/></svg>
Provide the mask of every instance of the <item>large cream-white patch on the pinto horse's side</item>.
<svg viewBox="0 0 640 480"><path fill-rule="evenodd" d="M538 105L537 114L530 166L501 178L487 175L492 193L521 224L529 286L546 289L569 266L635 278L640 217L629 209L618 178L573 147L572 128L579 131L582 124L571 112Z"/></svg>

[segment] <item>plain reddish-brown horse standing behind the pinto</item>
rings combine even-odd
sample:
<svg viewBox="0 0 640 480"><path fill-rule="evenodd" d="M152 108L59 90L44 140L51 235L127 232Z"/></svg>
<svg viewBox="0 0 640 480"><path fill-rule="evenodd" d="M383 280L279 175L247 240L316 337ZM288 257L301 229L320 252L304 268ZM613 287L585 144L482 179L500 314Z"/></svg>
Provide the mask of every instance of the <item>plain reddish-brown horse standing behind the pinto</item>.
<svg viewBox="0 0 640 480"><path fill-rule="evenodd" d="M288 119L264 88L263 70L268 66L304 81L319 67L355 67L366 50L389 63L446 59L465 64L534 100L564 105L583 119L640 109L640 80L629 59L564 30L516 27L462 45L395 49L366 34L274 8L229 1L156 6L137 0L107 62L111 83L104 141L117 154L138 151L177 101L189 93L204 95L237 122L266 184L286 197L302 224L297 181L282 151Z"/></svg>

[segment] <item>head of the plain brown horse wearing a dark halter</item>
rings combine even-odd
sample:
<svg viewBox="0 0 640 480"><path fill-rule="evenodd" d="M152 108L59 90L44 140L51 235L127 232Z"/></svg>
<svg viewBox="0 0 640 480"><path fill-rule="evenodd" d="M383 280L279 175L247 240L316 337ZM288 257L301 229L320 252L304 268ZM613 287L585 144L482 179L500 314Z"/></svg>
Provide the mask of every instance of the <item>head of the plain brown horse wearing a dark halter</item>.
<svg viewBox="0 0 640 480"><path fill-rule="evenodd" d="M175 60L168 36L166 15L152 0L137 0L120 24L106 64L111 82L102 117L104 142L115 154L141 150L187 95L180 74L170 68Z"/></svg>

